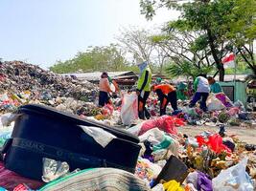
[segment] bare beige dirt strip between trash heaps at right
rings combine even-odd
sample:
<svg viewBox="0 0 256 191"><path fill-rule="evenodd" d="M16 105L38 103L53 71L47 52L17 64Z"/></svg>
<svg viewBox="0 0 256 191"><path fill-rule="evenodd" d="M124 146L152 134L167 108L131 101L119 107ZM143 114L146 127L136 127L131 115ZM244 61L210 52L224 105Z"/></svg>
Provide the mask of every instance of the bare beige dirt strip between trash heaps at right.
<svg viewBox="0 0 256 191"><path fill-rule="evenodd" d="M236 135L240 140L248 144L256 144L256 128L249 127L225 127L226 135ZM203 131L219 132L219 127L210 126L184 126L178 127L178 131L182 134L195 137Z"/></svg>

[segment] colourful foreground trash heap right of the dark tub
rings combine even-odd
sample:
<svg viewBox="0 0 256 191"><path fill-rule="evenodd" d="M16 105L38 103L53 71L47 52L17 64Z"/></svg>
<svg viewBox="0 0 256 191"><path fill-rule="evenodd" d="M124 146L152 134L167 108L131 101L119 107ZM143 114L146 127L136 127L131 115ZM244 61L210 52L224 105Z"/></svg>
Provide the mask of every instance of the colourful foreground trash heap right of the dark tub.
<svg viewBox="0 0 256 191"><path fill-rule="evenodd" d="M145 131L142 124L128 131L138 135L142 145L135 175L151 187L157 185L152 190L175 187L174 190L252 191L256 188L255 145L228 137L223 131L202 132L195 138L171 133L167 126Z"/></svg>

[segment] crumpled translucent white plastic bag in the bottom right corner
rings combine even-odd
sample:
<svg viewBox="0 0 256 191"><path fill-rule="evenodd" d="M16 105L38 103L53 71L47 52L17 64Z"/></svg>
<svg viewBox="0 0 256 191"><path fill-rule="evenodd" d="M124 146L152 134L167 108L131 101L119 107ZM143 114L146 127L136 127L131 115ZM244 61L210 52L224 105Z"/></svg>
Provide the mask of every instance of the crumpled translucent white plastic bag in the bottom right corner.
<svg viewBox="0 0 256 191"><path fill-rule="evenodd" d="M214 190L253 191L252 181L245 171L247 160L243 159L237 165L222 170L218 177L213 179Z"/></svg>

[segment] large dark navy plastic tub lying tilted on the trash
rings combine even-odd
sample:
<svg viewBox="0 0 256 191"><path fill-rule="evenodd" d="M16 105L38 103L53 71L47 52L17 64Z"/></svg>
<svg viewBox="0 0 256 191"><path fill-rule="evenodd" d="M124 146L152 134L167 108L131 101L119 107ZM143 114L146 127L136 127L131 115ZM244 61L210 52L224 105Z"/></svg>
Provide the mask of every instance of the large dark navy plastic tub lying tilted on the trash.
<svg viewBox="0 0 256 191"><path fill-rule="evenodd" d="M42 159L66 161L70 170L115 167L134 172L139 139L124 130L68 115L52 107L25 105L4 146L6 168L27 178L41 180ZM103 128L117 138L105 148L85 134L80 125Z"/></svg>

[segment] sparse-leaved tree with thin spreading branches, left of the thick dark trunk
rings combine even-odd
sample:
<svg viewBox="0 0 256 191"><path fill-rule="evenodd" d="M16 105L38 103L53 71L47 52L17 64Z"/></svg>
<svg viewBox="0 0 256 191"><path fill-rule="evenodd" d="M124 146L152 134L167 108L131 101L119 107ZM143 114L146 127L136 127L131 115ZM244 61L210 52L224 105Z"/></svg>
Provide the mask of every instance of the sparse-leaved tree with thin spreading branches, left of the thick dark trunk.
<svg viewBox="0 0 256 191"><path fill-rule="evenodd" d="M167 29L160 35L152 36L151 40L169 58L168 74L195 77L197 74L212 71L209 47L202 33L177 29L169 31L169 27Z"/></svg>

